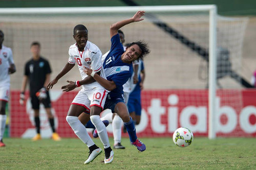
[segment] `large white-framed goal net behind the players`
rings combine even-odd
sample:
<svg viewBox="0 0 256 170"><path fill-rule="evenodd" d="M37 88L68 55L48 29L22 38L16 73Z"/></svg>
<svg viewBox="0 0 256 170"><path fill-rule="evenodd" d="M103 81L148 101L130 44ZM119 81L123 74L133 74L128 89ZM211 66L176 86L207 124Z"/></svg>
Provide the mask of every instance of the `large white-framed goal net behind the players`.
<svg viewBox="0 0 256 170"><path fill-rule="evenodd" d="M89 41L104 54L111 46L110 25L132 17L137 10L146 11L145 19L121 30L125 43L144 40L151 49L144 61L146 79L138 135L169 137L179 127L187 127L198 136L207 136L211 130L210 138L255 135L245 130L252 126L247 125L248 120L241 123L239 118L244 107L240 68L247 18L210 15L212 9L215 6L0 9L4 44L12 48L17 68L11 76L11 136L35 133L30 101L26 106L18 104L24 64L31 58L30 44L41 43L41 56L49 60L54 78L68 61L77 24L87 27ZM209 66L213 66L210 71ZM62 93L60 87L67 80L80 79L75 66L51 91L57 130L63 137L75 136L66 115L78 89ZM209 89L213 90L211 98ZM50 136L44 109L40 115L42 136ZM111 126L108 131L111 135Z"/></svg>

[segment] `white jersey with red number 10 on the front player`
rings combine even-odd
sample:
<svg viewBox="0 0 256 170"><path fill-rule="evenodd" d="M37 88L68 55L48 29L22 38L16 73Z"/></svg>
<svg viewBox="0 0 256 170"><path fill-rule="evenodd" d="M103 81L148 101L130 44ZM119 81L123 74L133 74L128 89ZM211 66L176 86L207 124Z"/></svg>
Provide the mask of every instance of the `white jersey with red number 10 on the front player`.
<svg viewBox="0 0 256 170"><path fill-rule="evenodd" d="M106 79L101 62L101 55L98 46L90 41L87 41L83 52L79 52L76 44L73 44L69 48L69 63L77 63L82 80L88 77L87 74L83 72L83 66L91 68L95 72L100 71L100 76ZM98 82L82 85L82 88L86 91L96 87L104 88Z"/></svg>

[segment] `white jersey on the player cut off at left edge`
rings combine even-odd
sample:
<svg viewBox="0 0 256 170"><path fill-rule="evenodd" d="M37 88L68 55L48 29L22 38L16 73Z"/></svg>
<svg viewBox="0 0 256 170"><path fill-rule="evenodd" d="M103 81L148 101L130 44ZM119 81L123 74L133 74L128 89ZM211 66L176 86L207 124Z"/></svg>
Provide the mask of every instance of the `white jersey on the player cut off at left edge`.
<svg viewBox="0 0 256 170"><path fill-rule="evenodd" d="M0 85L10 85L9 67L14 64L12 50L2 45L0 49Z"/></svg>

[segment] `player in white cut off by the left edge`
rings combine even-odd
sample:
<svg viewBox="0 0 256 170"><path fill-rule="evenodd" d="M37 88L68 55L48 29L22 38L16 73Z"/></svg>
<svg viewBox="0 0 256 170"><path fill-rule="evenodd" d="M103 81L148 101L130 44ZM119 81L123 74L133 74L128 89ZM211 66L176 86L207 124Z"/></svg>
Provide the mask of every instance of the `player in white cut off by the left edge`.
<svg viewBox="0 0 256 170"><path fill-rule="evenodd" d="M5 147L3 136L6 124L6 104L10 94L10 75L16 71L11 48L3 45L4 33L0 30L0 147Z"/></svg>

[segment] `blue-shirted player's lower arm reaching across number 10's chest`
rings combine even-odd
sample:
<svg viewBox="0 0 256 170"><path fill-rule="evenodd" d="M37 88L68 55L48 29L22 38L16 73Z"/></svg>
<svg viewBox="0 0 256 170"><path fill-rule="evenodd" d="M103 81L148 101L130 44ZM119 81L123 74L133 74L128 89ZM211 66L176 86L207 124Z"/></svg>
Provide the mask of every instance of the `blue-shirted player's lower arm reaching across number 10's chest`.
<svg viewBox="0 0 256 170"><path fill-rule="evenodd" d="M104 87L106 90L114 90L116 88L116 84L114 81L109 81L106 80L100 75L96 74L95 72L93 73L93 70L91 68L84 67L84 72L88 75L93 77L102 87ZM93 75L92 75L93 73Z"/></svg>

